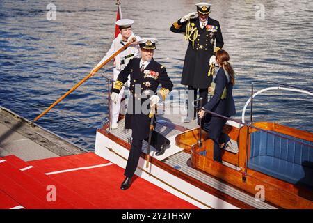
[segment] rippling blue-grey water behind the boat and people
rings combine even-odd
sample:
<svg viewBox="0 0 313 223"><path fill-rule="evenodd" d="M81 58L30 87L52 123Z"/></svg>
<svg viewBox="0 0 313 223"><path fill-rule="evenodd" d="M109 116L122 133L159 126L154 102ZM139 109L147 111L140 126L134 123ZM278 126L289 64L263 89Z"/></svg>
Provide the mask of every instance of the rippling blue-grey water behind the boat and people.
<svg viewBox="0 0 313 223"><path fill-rule="evenodd" d="M122 15L135 20L139 36L159 39L155 57L184 59L186 42L169 28L194 11L197 2L122 1ZM275 81L313 91L313 1L210 2L211 17L220 21L224 48L237 74L237 118L250 97L251 82ZM49 3L56 6L56 21L47 20ZM262 15L257 11L263 6L264 17L256 17ZM0 105L30 120L38 116L102 59L113 40L115 11L113 0L0 0ZM179 84L182 61L161 62L175 89L184 89ZM255 90L266 86L273 85L258 84ZM255 99L255 121L313 132L312 102L309 95L268 91ZM106 82L97 75L38 124L93 150L95 130L107 116L107 104Z"/></svg>

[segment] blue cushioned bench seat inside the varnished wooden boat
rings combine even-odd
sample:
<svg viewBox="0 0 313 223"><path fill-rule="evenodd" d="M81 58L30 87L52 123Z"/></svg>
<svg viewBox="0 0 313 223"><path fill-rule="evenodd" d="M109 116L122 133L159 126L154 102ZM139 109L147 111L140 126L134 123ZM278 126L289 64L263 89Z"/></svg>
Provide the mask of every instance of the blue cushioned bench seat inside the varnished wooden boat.
<svg viewBox="0 0 313 223"><path fill-rule="evenodd" d="M262 131L252 132L248 167L289 183L313 187L313 149L296 141L310 145L313 143L285 134L280 135L289 139Z"/></svg>

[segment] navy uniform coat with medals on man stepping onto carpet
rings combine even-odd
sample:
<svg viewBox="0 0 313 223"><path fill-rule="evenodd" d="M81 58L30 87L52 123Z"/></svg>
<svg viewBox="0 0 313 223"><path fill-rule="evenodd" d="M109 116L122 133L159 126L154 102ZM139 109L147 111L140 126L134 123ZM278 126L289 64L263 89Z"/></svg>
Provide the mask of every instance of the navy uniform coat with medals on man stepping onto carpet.
<svg viewBox="0 0 313 223"><path fill-rule="evenodd" d="M125 128L132 130L133 139L147 139L147 137L149 137L151 118L149 118L149 112L147 112L150 110L150 105L147 101L149 100L149 96L145 95L146 90L151 90L150 96L152 96L157 92L157 88L159 84L161 84L162 88L160 93L161 96L163 96L162 93L164 91L169 93L172 91L173 86L166 72L166 68L161 66L160 63L152 59L145 70L141 72L140 61L140 58L131 59L127 67L120 72L117 80L117 83L125 84L130 75L129 89L131 91L131 97L127 105ZM137 95L135 91L136 88L141 90L141 95ZM115 88L115 85L112 91L116 93L120 92L119 89ZM143 103L145 103L145 105L143 105ZM138 107L138 105L140 105L140 107ZM146 114L141 110L142 105L146 108Z"/></svg>

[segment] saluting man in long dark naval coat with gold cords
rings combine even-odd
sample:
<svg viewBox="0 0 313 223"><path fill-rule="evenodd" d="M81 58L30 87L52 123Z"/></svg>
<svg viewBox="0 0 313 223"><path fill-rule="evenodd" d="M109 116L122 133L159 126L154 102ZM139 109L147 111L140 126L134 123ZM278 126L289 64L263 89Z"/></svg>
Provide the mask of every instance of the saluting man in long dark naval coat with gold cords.
<svg viewBox="0 0 313 223"><path fill-rule="evenodd" d="M188 85L188 117L184 122L195 119L195 109L191 102L197 98L199 89L202 105L208 100L208 87L211 86L211 64L215 63L215 52L224 45L220 23L209 17L210 3L197 3L197 12L189 13L174 22L170 30L185 33L189 41L182 71L182 84ZM214 48L214 45L216 47ZM193 96L192 96L193 95Z"/></svg>

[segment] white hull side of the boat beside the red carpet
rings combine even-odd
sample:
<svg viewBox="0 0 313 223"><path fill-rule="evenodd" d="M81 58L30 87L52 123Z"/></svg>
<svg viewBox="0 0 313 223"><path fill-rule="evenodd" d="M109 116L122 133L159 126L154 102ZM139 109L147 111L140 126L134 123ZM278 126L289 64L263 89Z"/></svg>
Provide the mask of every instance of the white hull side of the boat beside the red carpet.
<svg viewBox="0 0 313 223"><path fill-rule="evenodd" d="M109 151L108 148L111 148L118 153L120 156L116 155ZM129 155L129 150L123 146L120 146L117 142L109 139L101 132L97 131L96 142L95 142L95 154L104 159L117 164L118 166L125 169L127 164L127 157ZM226 209L237 209L238 207L219 199L218 197L201 190L198 187L195 187L191 183L170 174L168 171L157 167L154 164L150 164L146 168L146 160L140 157L138 162L138 167L135 174L141 178L157 185L158 187L163 188L164 190L174 194L175 196L192 203L198 208L209 209L209 208L226 208ZM143 170L141 170L143 169ZM166 183L161 182L157 178L165 181ZM170 184L170 185L169 185ZM188 194L188 195L186 195Z"/></svg>

